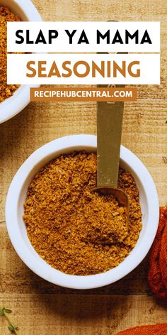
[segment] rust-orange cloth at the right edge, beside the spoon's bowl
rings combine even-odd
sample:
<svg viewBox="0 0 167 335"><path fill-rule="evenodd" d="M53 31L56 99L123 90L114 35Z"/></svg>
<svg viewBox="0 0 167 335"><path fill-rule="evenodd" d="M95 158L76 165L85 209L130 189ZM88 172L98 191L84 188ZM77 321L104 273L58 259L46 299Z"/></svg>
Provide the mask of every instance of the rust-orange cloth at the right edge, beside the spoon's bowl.
<svg viewBox="0 0 167 335"><path fill-rule="evenodd" d="M167 301L167 207L160 208L159 229L149 256L148 280L154 294Z"/></svg>

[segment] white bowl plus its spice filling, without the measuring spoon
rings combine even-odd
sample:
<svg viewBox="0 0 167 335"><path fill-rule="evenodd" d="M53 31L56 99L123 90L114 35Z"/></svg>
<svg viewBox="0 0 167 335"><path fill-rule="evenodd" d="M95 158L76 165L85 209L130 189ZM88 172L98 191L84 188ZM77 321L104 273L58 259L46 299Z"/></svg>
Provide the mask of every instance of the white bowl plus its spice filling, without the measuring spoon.
<svg viewBox="0 0 167 335"><path fill-rule="evenodd" d="M129 197L129 223L128 234L114 241L106 220L108 194L100 206L101 197L91 192L96 151L96 136L58 138L30 155L8 190L13 247L31 270L56 285L90 289L120 280L142 262L156 235L156 187L139 158L121 146L118 188ZM110 215L119 216L118 209L115 199Z"/></svg>

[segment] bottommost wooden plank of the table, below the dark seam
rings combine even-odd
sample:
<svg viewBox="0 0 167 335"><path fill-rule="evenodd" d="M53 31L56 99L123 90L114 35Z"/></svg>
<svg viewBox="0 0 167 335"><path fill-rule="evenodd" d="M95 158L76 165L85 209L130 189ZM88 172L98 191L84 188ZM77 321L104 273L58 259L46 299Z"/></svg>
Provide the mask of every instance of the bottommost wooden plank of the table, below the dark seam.
<svg viewBox="0 0 167 335"><path fill-rule="evenodd" d="M142 324L166 322L166 309L152 297L117 295L0 295L13 309L13 321L24 335L115 335ZM1 335L6 320L0 319ZM165 335L165 334L164 334Z"/></svg>

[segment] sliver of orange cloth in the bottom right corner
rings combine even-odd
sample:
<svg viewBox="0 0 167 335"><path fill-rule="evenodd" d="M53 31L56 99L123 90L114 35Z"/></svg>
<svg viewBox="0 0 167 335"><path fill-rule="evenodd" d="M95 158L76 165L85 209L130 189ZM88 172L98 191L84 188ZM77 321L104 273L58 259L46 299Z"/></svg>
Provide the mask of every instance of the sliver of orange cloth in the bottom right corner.
<svg viewBox="0 0 167 335"><path fill-rule="evenodd" d="M137 326L116 335L167 335L167 324L154 324L152 326Z"/></svg>

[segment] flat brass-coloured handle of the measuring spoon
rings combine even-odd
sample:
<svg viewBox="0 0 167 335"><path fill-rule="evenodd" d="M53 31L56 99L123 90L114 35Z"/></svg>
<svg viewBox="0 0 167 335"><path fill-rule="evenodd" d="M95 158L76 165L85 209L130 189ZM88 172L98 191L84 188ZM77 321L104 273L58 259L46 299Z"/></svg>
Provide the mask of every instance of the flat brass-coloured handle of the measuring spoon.
<svg viewBox="0 0 167 335"><path fill-rule="evenodd" d="M98 102L98 187L117 187L124 102Z"/></svg>

